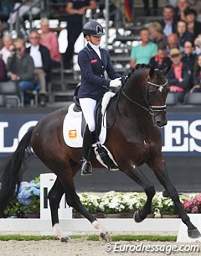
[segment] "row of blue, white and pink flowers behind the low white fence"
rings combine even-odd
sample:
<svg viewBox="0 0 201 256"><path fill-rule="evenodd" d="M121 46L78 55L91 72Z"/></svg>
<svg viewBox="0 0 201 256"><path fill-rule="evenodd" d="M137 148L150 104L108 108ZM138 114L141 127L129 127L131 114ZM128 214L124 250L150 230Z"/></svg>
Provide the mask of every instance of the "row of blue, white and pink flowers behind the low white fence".
<svg viewBox="0 0 201 256"><path fill-rule="evenodd" d="M133 213L142 209L147 201L145 193L123 193L109 191L104 196L95 196L91 193L79 194L80 201L85 209L101 216L110 213ZM180 196L183 208L187 213L201 213L201 194L186 199ZM40 179L22 182L18 197L15 198L4 212L4 217L27 217L29 213L40 212ZM152 213L177 214L177 208L170 198L157 193L152 200Z"/></svg>

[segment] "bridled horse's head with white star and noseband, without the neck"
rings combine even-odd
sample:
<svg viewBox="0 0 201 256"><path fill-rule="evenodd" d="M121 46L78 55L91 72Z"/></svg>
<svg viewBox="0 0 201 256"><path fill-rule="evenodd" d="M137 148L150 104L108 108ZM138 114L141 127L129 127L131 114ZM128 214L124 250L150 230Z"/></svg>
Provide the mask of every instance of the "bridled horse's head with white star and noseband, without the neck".
<svg viewBox="0 0 201 256"><path fill-rule="evenodd" d="M168 71L169 67L163 71L151 67L145 86L147 105L158 127L163 127L167 124L166 98L169 86L165 76L168 74Z"/></svg>

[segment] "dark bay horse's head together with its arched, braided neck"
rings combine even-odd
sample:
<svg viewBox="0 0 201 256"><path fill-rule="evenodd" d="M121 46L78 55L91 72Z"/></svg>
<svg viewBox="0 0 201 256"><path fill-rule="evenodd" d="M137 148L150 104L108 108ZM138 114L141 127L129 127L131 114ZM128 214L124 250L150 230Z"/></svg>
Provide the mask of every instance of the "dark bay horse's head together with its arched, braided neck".
<svg viewBox="0 0 201 256"><path fill-rule="evenodd" d="M149 65L137 65L131 70L123 86L123 95L137 107L149 112L158 127L167 124L166 98L169 91L168 74L169 67L163 71L150 68ZM130 79L131 77L131 79Z"/></svg>

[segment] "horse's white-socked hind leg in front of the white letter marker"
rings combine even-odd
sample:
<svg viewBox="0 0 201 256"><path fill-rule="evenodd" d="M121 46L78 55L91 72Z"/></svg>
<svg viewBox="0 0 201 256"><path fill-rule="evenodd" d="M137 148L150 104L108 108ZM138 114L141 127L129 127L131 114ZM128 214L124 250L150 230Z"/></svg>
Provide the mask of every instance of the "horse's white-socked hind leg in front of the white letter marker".
<svg viewBox="0 0 201 256"><path fill-rule="evenodd" d="M59 227L59 216L58 209L61 197L64 195L63 185L60 183L57 178L54 182L53 187L49 191L49 206L51 210L52 217L52 227L54 237L59 238L62 242L68 242L69 238L64 236L64 233L61 231Z"/></svg>

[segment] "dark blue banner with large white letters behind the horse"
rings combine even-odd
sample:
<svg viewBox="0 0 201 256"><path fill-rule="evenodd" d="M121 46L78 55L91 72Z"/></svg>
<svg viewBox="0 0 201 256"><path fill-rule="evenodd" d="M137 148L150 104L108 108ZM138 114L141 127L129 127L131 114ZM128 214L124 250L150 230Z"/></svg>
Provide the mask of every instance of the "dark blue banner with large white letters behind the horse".
<svg viewBox="0 0 201 256"><path fill-rule="evenodd" d="M44 114L0 115L0 157L12 153L28 129L43 117ZM201 155L201 114L198 112L169 113L168 125L160 131L165 156Z"/></svg>

